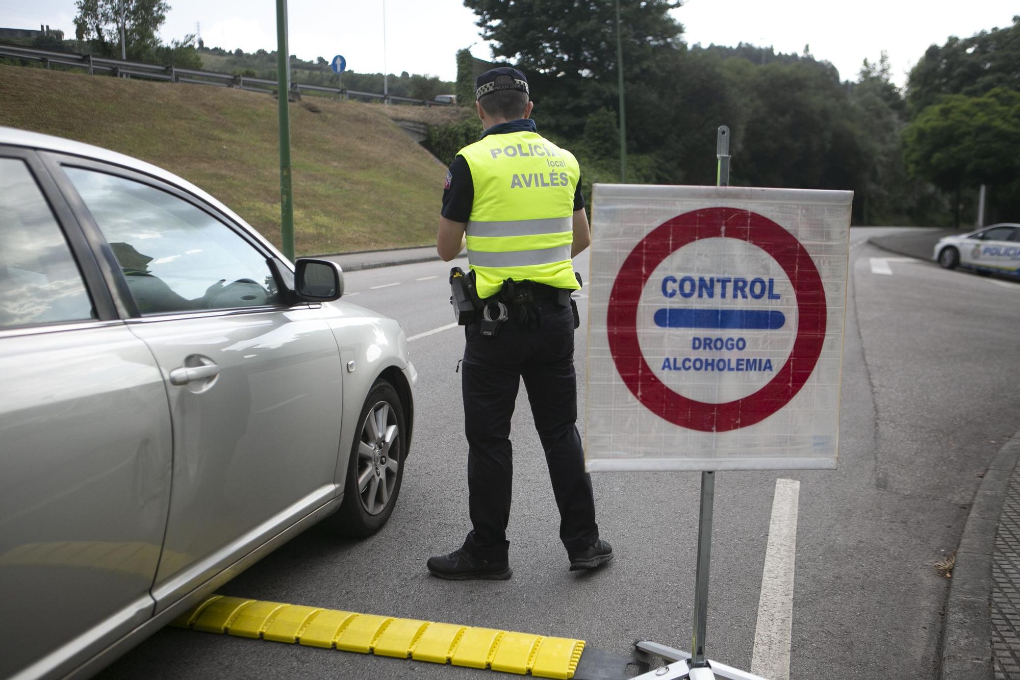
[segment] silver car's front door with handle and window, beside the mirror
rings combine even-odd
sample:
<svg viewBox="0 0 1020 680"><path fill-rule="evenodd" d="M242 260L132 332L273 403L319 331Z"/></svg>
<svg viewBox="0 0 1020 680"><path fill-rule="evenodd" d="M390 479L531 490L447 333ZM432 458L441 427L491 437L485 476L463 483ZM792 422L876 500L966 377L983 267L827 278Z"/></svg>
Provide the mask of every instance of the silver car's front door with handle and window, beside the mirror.
<svg viewBox="0 0 1020 680"><path fill-rule="evenodd" d="M342 375L244 229L148 176L61 161L169 394L173 493L157 613L337 495Z"/></svg>

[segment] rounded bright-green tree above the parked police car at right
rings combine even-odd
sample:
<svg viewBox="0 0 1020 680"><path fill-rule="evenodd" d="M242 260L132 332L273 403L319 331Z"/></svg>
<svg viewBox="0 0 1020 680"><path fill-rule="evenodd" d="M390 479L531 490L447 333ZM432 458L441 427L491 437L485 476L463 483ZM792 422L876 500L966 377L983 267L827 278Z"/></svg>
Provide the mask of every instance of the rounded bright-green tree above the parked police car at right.
<svg viewBox="0 0 1020 680"><path fill-rule="evenodd" d="M947 95L927 106L904 132L904 161L911 175L956 196L960 226L965 186L1007 187L1016 203L1020 189L1020 92L996 88L980 97Z"/></svg>

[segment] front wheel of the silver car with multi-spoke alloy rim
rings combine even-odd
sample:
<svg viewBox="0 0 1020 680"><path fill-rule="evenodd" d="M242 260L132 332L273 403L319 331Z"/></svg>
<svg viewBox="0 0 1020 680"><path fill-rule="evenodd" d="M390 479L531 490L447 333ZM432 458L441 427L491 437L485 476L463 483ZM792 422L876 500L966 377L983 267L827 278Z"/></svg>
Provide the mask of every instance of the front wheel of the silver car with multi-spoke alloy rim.
<svg viewBox="0 0 1020 680"><path fill-rule="evenodd" d="M358 416L344 500L333 520L345 536L371 536L393 514L404 478L405 423L397 390L382 379L375 381Z"/></svg>

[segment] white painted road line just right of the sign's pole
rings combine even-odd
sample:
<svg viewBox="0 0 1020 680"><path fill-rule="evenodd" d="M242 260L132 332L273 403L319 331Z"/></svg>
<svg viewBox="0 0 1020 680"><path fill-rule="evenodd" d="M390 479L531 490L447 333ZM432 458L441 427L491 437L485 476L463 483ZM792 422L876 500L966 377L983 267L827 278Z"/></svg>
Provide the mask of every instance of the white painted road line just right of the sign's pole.
<svg viewBox="0 0 1020 680"><path fill-rule="evenodd" d="M751 672L771 680L789 680L794 628L794 562L797 556L797 505L801 483L775 480L772 519L765 547L762 591Z"/></svg>

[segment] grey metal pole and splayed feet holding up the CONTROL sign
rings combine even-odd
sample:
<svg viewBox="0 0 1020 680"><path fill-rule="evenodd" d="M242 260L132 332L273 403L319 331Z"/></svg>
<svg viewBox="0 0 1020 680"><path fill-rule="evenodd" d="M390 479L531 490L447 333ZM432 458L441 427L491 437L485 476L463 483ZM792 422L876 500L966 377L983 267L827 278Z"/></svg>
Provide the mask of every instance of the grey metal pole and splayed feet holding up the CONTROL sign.
<svg viewBox="0 0 1020 680"><path fill-rule="evenodd" d="M729 128L719 126L715 137L717 187L729 186ZM708 576L712 565L712 516L715 506L715 472L702 472L701 508L698 514L698 562L695 570L695 620L691 639L693 653L673 647L639 640L634 646L666 661L666 666L640 675L633 680L765 680L740 669L710 662L705 655L705 629L708 624Z"/></svg>

